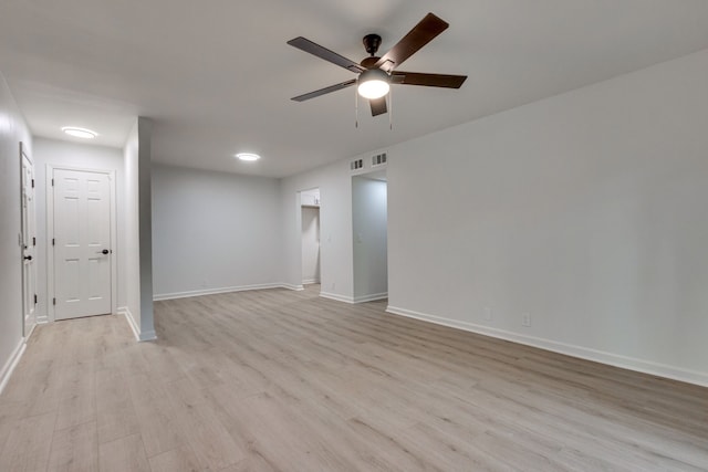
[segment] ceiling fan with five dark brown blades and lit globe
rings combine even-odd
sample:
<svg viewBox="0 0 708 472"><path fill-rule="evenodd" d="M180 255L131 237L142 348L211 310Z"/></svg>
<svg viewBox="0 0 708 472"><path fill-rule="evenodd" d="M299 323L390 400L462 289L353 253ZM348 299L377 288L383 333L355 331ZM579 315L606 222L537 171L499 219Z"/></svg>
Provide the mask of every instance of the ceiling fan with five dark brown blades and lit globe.
<svg viewBox="0 0 708 472"><path fill-rule="evenodd" d="M358 64L305 38L298 36L290 40L288 44L291 46L309 52L310 54L358 74L356 78L298 95L292 97L292 99L295 102L304 102L357 84L358 94L364 98L368 98L372 115L376 116L387 112L386 95L388 94L391 84L459 88L467 78L467 75L425 74L395 70L448 27L449 24L446 21L433 13L428 13L408 34L403 36L391 51L381 57L376 56L382 41L381 36L378 34L367 34L363 41L364 48L369 56L365 57Z"/></svg>

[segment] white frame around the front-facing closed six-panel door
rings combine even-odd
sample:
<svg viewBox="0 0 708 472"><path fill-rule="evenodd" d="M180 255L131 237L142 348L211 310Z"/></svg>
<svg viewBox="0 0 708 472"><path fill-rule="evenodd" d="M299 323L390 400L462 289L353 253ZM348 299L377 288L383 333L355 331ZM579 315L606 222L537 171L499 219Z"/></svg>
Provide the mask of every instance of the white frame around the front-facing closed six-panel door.
<svg viewBox="0 0 708 472"><path fill-rule="evenodd" d="M54 237L54 170L74 170L80 172L93 172L93 174L105 174L108 176L108 185L111 187L111 253L108 256L111 258L111 313L116 314L118 308L118 300L117 300L117 254L118 254L118 244L117 244L117 225L116 225L116 216L117 216L117 200L116 200L116 191L115 191L115 170L111 169L92 169L87 167L74 167L74 166L64 166L64 165L46 165L46 313L49 315L49 321L56 321L54 316L54 304L52 300L55 294L54 286L54 244L52 244L52 239Z"/></svg>

